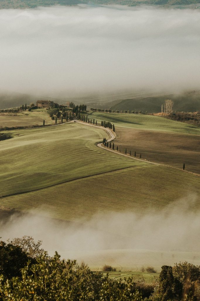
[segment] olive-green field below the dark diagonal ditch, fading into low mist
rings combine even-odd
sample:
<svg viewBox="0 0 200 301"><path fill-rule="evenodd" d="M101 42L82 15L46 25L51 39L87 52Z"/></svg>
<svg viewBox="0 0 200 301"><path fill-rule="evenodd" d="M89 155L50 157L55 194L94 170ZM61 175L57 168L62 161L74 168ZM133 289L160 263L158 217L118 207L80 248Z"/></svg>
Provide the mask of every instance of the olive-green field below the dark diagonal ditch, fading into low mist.
<svg viewBox="0 0 200 301"><path fill-rule="evenodd" d="M105 156L109 156L108 152L104 152ZM94 160L96 156L92 157L92 153L93 151L87 151L85 154ZM97 156L103 158L101 154ZM118 157L123 164L123 157ZM70 158L72 160L72 156ZM73 163L75 161L73 160ZM117 158L112 155L107 157L105 162L111 164L110 170L113 168L113 162L119 165ZM71 161L72 165L73 163ZM106 166L102 164L102 168L105 170ZM70 166L70 171L73 172L73 166ZM95 167L93 172L95 172ZM91 173L89 165L85 166L85 174L88 173ZM34 176L34 171L32 175ZM73 176L77 177L77 174L74 172ZM59 177L58 174L57 177ZM38 187L42 181L40 177L37 182L35 181L35 185L37 184ZM16 182L19 185L17 178ZM113 211L146 213L151 210L160 211L166 206L173 209L174 201L182 198L187 199L187 202L176 203L181 210L183 206L189 205L190 210L199 209L199 176L144 162L143 165L136 164L128 169L77 179L39 191L4 197L0 199L0 204L19 211L39 208L40 214L48 214L56 219L82 222L95 213L103 214Z"/></svg>

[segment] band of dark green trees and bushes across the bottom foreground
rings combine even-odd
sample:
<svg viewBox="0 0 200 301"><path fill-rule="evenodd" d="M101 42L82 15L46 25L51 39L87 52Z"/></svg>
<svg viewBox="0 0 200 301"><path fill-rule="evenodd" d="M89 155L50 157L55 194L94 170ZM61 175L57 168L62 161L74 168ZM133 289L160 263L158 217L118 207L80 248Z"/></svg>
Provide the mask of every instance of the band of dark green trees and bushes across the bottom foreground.
<svg viewBox="0 0 200 301"><path fill-rule="evenodd" d="M200 267L163 265L159 281L118 281L87 265L50 257L31 236L0 242L0 300L194 301L200 299ZM105 270L112 270L104 266Z"/></svg>

